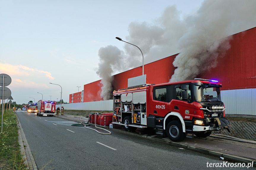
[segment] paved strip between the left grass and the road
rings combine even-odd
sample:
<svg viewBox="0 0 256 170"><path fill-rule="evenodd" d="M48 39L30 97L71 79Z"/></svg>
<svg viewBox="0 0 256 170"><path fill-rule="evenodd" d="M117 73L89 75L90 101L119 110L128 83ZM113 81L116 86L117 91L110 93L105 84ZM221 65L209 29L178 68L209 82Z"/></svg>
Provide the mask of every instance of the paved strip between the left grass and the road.
<svg viewBox="0 0 256 170"><path fill-rule="evenodd" d="M20 153L23 155L22 158L24 160L24 164L27 166L26 169L38 170L37 166L36 166L36 163L35 163L35 160L34 160L34 157L32 155L32 152L29 148L28 141L26 139L25 133L23 132L23 129L21 127L18 116L17 116L17 119L18 119L18 126L19 126L19 131L18 131L19 137L18 137L18 139L19 139L19 144L20 144ZM25 148L24 148L24 145L26 146Z"/></svg>

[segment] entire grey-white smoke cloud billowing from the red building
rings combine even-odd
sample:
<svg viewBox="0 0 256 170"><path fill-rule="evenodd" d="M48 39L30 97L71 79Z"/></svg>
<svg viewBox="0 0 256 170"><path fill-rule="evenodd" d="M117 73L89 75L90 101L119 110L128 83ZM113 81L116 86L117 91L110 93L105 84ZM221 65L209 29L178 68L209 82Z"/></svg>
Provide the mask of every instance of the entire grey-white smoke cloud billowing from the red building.
<svg viewBox="0 0 256 170"><path fill-rule="evenodd" d="M180 53L173 62L177 69L170 82L192 79L217 65L217 58L224 56L225 51L230 48L229 40L232 37L228 37L229 35L256 26L255 9L255 0L205 0L197 12L181 19L177 8L169 6L152 23L131 22L128 27L129 35L123 39L139 46L144 54L145 64ZM122 65L117 62L124 62L123 58L126 59L127 67L120 68L120 71L142 65L141 52L136 47L125 43L124 52L118 48L115 50L120 51L120 55L115 56L115 63L110 63L111 66L105 66L102 63L104 60L101 59L97 74L102 76L102 79L106 75L105 72L109 73L109 77L113 68L117 69L118 65ZM100 51L101 49L99 56L102 54ZM104 69L101 69L101 66ZM102 82L105 86L103 88L109 89L112 79L104 78ZM110 96L112 90L107 90L110 92L107 94L103 88L102 93Z"/></svg>

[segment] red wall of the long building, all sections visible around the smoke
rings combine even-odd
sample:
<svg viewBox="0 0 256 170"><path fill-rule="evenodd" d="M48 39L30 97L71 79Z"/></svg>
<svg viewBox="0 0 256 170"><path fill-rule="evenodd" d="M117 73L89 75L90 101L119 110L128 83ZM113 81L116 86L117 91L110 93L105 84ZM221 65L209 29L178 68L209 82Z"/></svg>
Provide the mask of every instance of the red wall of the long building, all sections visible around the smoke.
<svg viewBox="0 0 256 170"><path fill-rule="evenodd" d="M223 58L218 59L217 67L203 72L197 77L219 80L222 83L222 90L256 88L256 27L232 36L231 47ZM169 82L174 74L175 67L172 63L177 55L145 64L146 83L161 84ZM113 89L126 88L128 78L140 75L142 75L142 66L114 75ZM86 84L84 85L83 101L103 100L100 93L100 80Z"/></svg>

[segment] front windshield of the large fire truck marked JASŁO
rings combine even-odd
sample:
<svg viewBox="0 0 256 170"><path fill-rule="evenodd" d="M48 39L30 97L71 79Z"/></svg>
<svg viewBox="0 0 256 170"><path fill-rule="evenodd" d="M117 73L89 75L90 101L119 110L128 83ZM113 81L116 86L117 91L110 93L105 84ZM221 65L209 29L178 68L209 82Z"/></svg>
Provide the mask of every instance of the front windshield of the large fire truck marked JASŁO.
<svg viewBox="0 0 256 170"><path fill-rule="evenodd" d="M195 101L202 102L216 102L221 101L220 87L203 84L194 86Z"/></svg>

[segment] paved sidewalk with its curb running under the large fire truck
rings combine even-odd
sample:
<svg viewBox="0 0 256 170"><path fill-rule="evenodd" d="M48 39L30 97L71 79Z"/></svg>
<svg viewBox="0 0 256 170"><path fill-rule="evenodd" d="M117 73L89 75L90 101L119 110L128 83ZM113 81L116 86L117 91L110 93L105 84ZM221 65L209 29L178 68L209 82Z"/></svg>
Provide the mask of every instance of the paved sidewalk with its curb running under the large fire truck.
<svg viewBox="0 0 256 170"><path fill-rule="evenodd" d="M72 120L78 123L88 120L88 118L85 118L85 117L81 118L81 116L73 116L73 115L60 115L56 117ZM115 125L114 129L110 129L109 127L104 127L104 128L112 131L120 132L120 133L125 133L127 135L142 137L147 140L154 140L160 143L177 146L179 148L194 150L204 154L216 156L218 158L224 157L225 159L228 159L231 161L245 162L245 163L252 163L253 161L254 167L256 166L256 144L219 139L214 137L207 137L207 138L194 137L193 139L185 138L185 140L183 140L182 142L173 142L168 137L162 138L162 135L145 134L143 130L139 132L137 132L138 130L136 130L135 133L126 132L125 130L123 130L123 128L120 125Z"/></svg>

